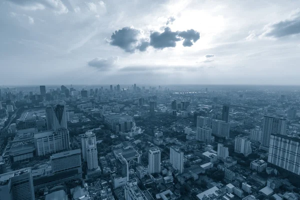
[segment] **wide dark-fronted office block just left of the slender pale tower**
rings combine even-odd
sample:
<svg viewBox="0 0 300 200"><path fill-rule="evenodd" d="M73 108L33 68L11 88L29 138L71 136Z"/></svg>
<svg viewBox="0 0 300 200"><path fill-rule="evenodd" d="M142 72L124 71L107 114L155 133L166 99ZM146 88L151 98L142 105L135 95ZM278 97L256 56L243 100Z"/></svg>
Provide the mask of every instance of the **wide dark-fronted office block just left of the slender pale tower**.
<svg viewBox="0 0 300 200"><path fill-rule="evenodd" d="M52 154L50 161L54 173L73 169L79 170L80 173L82 172L80 148Z"/></svg>

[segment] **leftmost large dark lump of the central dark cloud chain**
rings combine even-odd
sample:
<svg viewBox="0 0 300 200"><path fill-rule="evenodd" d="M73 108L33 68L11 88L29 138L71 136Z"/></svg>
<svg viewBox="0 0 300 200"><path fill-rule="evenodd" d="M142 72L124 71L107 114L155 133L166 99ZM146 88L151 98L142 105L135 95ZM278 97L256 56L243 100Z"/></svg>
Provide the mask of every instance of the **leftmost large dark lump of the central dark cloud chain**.
<svg viewBox="0 0 300 200"><path fill-rule="evenodd" d="M112 33L109 43L124 49L126 52L134 52L140 33L140 30L133 27L123 27Z"/></svg>

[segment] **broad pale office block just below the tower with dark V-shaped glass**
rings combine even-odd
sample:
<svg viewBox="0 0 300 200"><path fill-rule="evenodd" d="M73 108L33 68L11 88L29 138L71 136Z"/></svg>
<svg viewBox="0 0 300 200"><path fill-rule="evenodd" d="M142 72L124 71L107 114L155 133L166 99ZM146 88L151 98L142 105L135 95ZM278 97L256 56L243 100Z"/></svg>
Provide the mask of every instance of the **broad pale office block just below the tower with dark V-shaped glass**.
<svg viewBox="0 0 300 200"><path fill-rule="evenodd" d="M69 149L69 132L66 128L34 133L36 155L46 155Z"/></svg>

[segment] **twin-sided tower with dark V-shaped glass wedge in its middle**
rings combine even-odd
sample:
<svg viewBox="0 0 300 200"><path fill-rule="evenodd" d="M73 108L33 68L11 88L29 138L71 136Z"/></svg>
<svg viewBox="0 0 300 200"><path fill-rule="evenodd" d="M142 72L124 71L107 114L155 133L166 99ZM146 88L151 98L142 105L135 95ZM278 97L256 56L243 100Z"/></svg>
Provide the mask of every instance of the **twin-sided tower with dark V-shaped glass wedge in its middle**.
<svg viewBox="0 0 300 200"><path fill-rule="evenodd" d="M64 105L57 104L46 106L46 123L48 130L67 128L66 108Z"/></svg>

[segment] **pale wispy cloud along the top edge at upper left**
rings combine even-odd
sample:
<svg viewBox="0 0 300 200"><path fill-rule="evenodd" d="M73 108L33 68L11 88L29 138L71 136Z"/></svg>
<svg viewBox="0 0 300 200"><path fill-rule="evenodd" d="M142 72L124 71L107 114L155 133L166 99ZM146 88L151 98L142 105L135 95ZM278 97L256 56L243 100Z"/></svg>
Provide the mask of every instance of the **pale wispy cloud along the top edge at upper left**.
<svg viewBox="0 0 300 200"><path fill-rule="evenodd" d="M23 9L37 10L37 9L52 9L56 14L67 13L67 7L61 0L7 0Z"/></svg>

